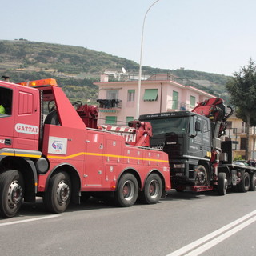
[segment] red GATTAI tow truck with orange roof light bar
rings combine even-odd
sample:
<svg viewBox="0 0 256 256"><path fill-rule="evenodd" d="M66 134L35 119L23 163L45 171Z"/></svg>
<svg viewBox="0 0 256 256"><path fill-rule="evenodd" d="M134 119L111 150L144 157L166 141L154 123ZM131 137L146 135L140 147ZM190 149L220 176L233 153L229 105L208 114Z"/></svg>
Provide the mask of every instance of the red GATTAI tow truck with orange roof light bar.
<svg viewBox="0 0 256 256"><path fill-rule="evenodd" d="M129 145L98 129L97 108L73 106L54 79L1 81L0 104L2 217L13 217L23 200L36 197L46 210L61 213L91 194L132 206L137 199L156 203L170 190L168 154L142 147L150 130Z"/></svg>

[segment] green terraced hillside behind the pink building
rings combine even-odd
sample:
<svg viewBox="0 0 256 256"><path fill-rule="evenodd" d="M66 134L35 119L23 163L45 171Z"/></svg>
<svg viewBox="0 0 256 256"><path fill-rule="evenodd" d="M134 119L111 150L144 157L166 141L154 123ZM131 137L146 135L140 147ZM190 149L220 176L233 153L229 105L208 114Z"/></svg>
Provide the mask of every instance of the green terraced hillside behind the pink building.
<svg viewBox="0 0 256 256"><path fill-rule="evenodd" d="M11 82L56 78L70 101L82 100L94 104L98 98L98 82L104 70L138 74L138 63L79 46L65 46L25 39L0 41L0 75L9 75ZM142 66L144 74L174 74L189 79L198 89L227 99L229 77L193 70L163 70Z"/></svg>

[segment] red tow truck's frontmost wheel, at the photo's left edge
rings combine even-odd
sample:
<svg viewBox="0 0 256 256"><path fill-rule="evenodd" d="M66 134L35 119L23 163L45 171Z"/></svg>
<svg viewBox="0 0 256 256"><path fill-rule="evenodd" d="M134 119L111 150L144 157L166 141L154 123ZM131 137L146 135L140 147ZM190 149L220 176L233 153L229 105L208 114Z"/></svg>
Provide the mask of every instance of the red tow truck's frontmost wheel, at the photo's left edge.
<svg viewBox="0 0 256 256"><path fill-rule="evenodd" d="M24 182L18 170L6 170L0 174L0 213L4 218L17 214L22 206Z"/></svg>

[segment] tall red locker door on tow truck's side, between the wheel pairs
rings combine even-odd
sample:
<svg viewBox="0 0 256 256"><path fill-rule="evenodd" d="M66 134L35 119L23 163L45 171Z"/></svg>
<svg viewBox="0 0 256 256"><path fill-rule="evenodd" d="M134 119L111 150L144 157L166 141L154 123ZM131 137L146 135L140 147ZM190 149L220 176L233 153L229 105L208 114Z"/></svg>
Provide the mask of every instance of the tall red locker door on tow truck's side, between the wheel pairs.
<svg viewBox="0 0 256 256"><path fill-rule="evenodd" d="M86 138L85 186L102 186L103 134L88 130Z"/></svg>

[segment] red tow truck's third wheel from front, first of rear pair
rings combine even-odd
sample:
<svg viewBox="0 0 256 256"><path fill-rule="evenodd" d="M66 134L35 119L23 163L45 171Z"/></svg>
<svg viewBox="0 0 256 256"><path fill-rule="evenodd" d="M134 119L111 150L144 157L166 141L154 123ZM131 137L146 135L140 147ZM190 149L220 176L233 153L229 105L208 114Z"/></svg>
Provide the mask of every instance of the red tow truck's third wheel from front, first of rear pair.
<svg viewBox="0 0 256 256"><path fill-rule="evenodd" d="M133 174L124 174L118 182L118 189L114 193L118 206L133 206L138 198L138 182Z"/></svg>

